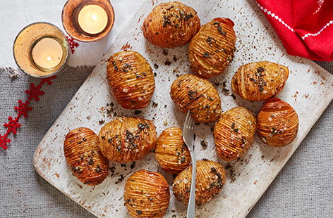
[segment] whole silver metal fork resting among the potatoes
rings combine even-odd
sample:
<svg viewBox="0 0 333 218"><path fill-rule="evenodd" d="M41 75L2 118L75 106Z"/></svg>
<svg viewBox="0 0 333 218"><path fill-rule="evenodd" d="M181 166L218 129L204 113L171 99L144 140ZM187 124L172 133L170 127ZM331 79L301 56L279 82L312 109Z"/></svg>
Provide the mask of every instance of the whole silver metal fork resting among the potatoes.
<svg viewBox="0 0 333 218"><path fill-rule="evenodd" d="M190 150L190 158L192 160L192 181L190 184L190 199L188 200L188 212L186 218L194 218L195 217L195 178L197 177L197 165L193 147L194 141L194 120L190 115L190 110L186 115L186 119L183 125L183 141L188 146L188 150Z"/></svg>

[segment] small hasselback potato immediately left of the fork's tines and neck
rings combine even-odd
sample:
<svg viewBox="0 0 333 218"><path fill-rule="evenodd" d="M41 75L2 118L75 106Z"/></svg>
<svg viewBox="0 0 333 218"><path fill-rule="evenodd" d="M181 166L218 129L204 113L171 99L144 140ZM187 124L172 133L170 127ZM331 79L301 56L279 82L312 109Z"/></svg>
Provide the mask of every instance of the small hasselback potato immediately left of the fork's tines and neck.
<svg viewBox="0 0 333 218"><path fill-rule="evenodd" d="M190 165L190 151L179 128L165 129L156 141L155 157L159 165L171 174L178 174Z"/></svg>

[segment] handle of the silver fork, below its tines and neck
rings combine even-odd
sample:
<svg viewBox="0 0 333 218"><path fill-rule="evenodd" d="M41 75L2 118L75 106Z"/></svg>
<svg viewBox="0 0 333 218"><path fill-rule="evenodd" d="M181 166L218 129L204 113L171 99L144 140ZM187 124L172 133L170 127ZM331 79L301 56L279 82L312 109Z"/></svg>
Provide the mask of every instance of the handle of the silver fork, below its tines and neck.
<svg viewBox="0 0 333 218"><path fill-rule="evenodd" d="M195 217L195 179L197 177L197 162L194 150L190 151L190 158L192 159L192 181L190 183L190 199L188 200L188 212L186 218Z"/></svg>

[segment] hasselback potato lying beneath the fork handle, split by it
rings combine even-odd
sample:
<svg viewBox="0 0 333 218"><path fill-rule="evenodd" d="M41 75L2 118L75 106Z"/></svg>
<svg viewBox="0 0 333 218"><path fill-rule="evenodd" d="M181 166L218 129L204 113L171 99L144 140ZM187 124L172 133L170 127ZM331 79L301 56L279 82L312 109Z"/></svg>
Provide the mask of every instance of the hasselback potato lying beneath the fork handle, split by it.
<svg viewBox="0 0 333 218"><path fill-rule="evenodd" d="M173 192L177 200L188 204L192 165L183 170L174 179ZM225 170L218 162L211 160L197 161L197 178L195 181L195 203L203 205L222 190L226 181Z"/></svg>

